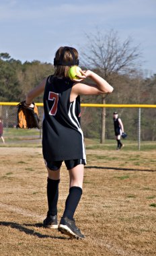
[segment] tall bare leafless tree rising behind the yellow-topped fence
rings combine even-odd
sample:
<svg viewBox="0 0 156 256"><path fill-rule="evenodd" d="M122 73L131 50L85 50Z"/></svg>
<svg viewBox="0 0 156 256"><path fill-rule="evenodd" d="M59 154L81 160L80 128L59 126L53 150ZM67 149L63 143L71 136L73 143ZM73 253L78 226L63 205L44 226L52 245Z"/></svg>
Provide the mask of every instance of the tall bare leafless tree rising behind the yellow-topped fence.
<svg viewBox="0 0 156 256"><path fill-rule="evenodd" d="M96 69L106 81L113 85L114 73L132 73L139 67L139 46L132 46L132 38L128 37L121 42L118 32L110 30L103 35L85 34L87 47L81 51L81 59L84 67ZM102 96L102 104L106 104L106 96ZM102 109L102 134L101 143L105 141L106 108Z"/></svg>

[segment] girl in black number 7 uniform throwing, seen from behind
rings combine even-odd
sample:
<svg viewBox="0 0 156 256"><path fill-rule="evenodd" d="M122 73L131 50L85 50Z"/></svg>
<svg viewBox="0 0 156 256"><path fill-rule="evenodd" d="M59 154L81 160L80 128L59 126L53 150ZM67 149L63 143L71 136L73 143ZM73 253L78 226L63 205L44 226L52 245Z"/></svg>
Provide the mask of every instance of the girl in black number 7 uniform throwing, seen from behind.
<svg viewBox="0 0 156 256"><path fill-rule="evenodd" d="M60 47L54 58L54 75L44 79L29 92L25 104L33 107L32 100L44 92L42 152L48 170L48 212L44 226L58 228L72 238L84 238L73 219L82 195L83 169L86 163L80 125L80 95L111 93L113 88L102 77L89 70L81 71L79 79L69 79L68 71L73 65L79 65L77 50L67 46ZM81 84L86 77L94 84ZM69 170L69 195L58 225L58 184L63 161Z"/></svg>

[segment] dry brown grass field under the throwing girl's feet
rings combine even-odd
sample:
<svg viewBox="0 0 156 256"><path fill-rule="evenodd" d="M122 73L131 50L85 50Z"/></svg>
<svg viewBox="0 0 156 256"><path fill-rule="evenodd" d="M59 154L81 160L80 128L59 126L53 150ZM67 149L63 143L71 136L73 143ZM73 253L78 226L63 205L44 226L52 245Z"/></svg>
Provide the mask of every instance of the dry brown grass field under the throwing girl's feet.
<svg viewBox="0 0 156 256"><path fill-rule="evenodd" d="M155 255L155 150L87 150L83 197L75 213L85 240L42 227L46 168L41 148L0 148L0 255ZM58 218L68 193L61 172ZM150 206L153 205L153 206Z"/></svg>

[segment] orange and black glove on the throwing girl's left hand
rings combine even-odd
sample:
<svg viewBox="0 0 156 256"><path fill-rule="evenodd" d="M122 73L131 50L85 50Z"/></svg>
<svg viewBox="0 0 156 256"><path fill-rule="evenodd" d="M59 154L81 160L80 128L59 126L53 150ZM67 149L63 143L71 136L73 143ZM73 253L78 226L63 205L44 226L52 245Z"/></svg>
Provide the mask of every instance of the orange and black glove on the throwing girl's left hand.
<svg viewBox="0 0 156 256"><path fill-rule="evenodd" d="M25 101L17 104L17 128L30 129L38 128L40 129L40 119L38 116L38 108L34 104L34 108L30 108L24 105Z"/></svg>

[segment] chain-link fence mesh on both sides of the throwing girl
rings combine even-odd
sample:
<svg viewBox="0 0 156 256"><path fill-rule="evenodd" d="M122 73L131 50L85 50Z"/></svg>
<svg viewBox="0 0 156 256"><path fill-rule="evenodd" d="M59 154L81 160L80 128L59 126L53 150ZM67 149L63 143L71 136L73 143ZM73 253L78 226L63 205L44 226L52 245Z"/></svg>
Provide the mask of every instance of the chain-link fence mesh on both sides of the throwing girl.
<svg viewBox="0 0 156 256"><path fill-rule="evenodd" d="M9 104L9 103L8 103ZM85 137L99 139L102 133L102 107L88 107L82 104L81 107L81 127ZM87 105L87 104L86 104ZM149 105L150 106L150 105ZM106 139L114 139L113 112L118 111L119 117L124 124L124 131L128 133L129 140L156 141L156 106L153 107L118 107L113 105L106 107ZM38 106L38 113L42 122L44 115L43 106ZM14 106L1 104L0 117L5 129L11 129L17 125L17 105ZM140 131L139 131L140 130ZM42 131L36 130L36 133L42 136ZM26 136L28 133L25 133ZM24 133L23 133L24 135Z"/></svg>

